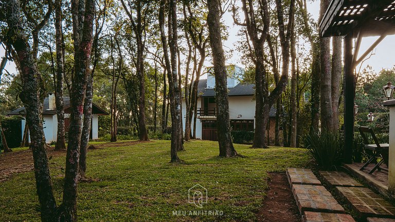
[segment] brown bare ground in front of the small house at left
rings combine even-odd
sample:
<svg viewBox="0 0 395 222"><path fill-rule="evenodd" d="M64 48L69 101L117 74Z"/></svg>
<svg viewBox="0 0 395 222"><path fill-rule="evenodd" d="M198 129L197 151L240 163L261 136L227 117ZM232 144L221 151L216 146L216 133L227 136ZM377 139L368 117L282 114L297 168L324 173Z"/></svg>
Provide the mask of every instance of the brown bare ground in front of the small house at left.
<svg viewBox="0 0 395 222"><path fill-rule="evenodd" d="M47 151L48 158L66 154L66 151L53 150L53 147ZM0 155L0 182L7 180L15 173L24 173L33 169L33 155L31 150L3 153Z"/></svg>

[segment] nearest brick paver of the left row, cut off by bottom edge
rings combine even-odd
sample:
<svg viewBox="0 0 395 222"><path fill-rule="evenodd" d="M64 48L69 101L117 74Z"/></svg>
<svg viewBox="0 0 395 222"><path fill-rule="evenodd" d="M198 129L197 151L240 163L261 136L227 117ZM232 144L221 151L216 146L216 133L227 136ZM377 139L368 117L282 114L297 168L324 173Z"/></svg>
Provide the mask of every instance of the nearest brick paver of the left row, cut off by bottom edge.
<svg viewBox="0 0 395 222"><path fill-rule="evenodd" d="M348 214L304 212L302 222L355 222L354 218ZM376 222L376 221L374 221ZM377 221L379 222L379 221ZM380 221L381 222L381 221Z"/></svg>

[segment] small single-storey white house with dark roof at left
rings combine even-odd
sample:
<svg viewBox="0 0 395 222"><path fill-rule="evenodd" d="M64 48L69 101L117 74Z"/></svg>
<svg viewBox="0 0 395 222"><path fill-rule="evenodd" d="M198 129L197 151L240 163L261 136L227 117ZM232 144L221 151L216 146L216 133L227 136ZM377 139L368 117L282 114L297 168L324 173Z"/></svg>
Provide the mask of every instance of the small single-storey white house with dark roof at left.
<svg viewBox="0 0 395 222"><path fill-rule="evenodd" d="M63 97L63 104L64 104L64 112L65 112L65 119L64 119L64 124L65 124L65 131L68 132L68 126L70 124L70 98L69 97ZM17 115L17 116L22 116L23 119L21 121L22 124L22 138L23 138L23 133L25 131L25 116L26 116L26 109L25 107L20 107L15 110L12 110L12 112L8 113L8 115ZM99 121L98 121L98 116L102 115L109 115L106 113L102 108L99 106L92 104L92 126L91 126L91 139L98 139L99 135ZM52 141L56 141L57 139L57 133L58 133L58 117L56 115L56 104L55 104L55 94L50 93L47 98L44 99L44 104L43 104L43 127L44 127L44 134L45 134L45 140L46 143L50 143ZM30 141L30 139L29 139Z"/></svg>

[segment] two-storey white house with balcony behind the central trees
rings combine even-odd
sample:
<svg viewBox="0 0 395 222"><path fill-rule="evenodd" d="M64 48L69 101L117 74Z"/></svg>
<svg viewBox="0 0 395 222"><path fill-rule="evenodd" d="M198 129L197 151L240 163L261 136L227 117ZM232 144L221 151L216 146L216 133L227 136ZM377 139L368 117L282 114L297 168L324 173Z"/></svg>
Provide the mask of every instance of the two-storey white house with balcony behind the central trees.
<svg viewBox="0 0 395 222"><path fill-rule="evenodd" d="M228 101L230 126L234 131L254 131L255 129L255 84L242 84L240 78L244 75L244 70L236 65L228 65ZM196 109L196 138L203 140L217 140L217 116L216 116L216 93L215 78L207 75L207 79L201 79L197 89L197 109ZM185 98L184 98L185 99ZM185 128L185 100L183 100L183 128ZM274 120L276 109L270 110L270 125ZM269 125L269 129L271 128ZM193 129L193 121L192 127ZM274 134L274 127L273 134ZM272 131L272 130L271 130ZM272 133L270 133L272 134Z"/></svg>

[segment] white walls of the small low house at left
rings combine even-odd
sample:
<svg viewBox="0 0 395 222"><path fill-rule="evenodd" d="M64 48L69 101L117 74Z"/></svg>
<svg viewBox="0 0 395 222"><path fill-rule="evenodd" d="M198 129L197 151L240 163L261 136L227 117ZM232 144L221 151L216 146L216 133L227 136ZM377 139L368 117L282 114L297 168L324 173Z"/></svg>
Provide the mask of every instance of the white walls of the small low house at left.
<svg viewBox="0 0 395 222"><path fill-rule="evenodd" d="M43 116L43 127L44 127L44 135L45 135L45 142L51 143L52 141L57 140L58 134L58 117L57 115L44 115ZM22 139L23 133L25 131L25 123L26 120L22 119ZM30 142L30 136L27 138ZM99 139L99 116L97 114L92 114L92 139Z"/></svg>

